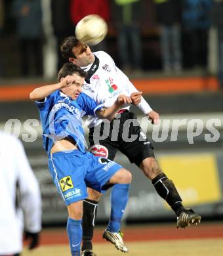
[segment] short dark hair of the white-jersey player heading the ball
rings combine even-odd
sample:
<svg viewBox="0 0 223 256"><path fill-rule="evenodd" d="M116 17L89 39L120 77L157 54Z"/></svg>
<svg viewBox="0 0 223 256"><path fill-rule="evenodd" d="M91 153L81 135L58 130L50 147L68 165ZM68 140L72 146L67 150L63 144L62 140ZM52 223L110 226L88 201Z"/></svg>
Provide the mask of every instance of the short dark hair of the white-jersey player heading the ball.
<svg viewBox="0 0 223 256"><path fill-rule="evenodd" d="M60 46L61 54L64 58L66 58L66 60L69 60L69 58L76 58L72 52L73 47L81 48L86 47L86 45L74 36L66 37Z"/></svg>

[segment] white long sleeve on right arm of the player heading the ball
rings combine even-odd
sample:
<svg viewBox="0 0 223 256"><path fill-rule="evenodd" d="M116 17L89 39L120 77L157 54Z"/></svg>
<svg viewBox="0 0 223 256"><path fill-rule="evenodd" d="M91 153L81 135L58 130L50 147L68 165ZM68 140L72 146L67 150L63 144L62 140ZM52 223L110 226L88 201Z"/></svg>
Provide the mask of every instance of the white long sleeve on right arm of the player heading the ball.
<svg viewBox="0 0 223 256"><path fill-rule="evenodd" d="M117 70L117 74L119 75L119 79L121 80L121 83L123 85L126 86L126 89L129 91L129 96L132 93L137 92L138 90L136 89L136 87L134 87L134 85L131 83L131 81L129 80L129 78L127 77L127 75L125 75L121 70L119 70L119 68L116 67ZM150 105L148 104L148 102L146 102L146 100L144 99L144 97L142 97L142 100L140 102L140 104L137 105L138 108L140 108L140 110L142 110L143 114L148 114L149 112L152 111L152 108L150 107Z"/></svg>

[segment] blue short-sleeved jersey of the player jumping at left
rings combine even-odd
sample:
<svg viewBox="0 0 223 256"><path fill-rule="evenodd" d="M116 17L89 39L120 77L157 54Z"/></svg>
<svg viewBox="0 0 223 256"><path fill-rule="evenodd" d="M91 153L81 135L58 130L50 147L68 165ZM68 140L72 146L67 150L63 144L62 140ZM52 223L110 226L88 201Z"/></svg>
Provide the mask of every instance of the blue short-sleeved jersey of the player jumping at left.
<svg viewBox="0 0 223 256"><path fill-rule="evenodd" d="M95 116L103 105L97 105L92 98L81 93L77 100L72 100L57 90L44 101L36 101L43 127L43 148L50 154L54 142L71 137L81 152L85 152L85 137L82 117Z"/></svg>

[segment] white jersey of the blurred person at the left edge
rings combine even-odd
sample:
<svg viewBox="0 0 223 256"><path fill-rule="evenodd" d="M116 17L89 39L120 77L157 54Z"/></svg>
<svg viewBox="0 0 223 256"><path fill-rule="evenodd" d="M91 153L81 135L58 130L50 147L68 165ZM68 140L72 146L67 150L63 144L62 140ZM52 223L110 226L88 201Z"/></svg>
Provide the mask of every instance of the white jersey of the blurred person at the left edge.
<svg viewBox="0 0 223 256"><path fill-rule="evenodd" d="M0 255L9 255L22 251L24 228L41 230L41 194L20 140L0 133L0 142Z"/></svg>

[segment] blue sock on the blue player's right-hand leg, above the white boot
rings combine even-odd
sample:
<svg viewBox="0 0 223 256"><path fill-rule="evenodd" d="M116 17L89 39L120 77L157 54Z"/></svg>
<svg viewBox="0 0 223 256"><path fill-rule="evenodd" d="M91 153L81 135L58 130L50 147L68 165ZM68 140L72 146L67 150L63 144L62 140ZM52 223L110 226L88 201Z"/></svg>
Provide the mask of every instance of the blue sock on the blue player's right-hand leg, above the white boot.
<svg viewBox="0 0 223 256"><path fill-rule="evenodd" d="M125 212L125 207L129 200L130 184L115 184L111 192L111 216L108 223L110 232L119 232L121 226L121 218Z"/></svg>

